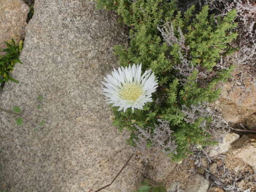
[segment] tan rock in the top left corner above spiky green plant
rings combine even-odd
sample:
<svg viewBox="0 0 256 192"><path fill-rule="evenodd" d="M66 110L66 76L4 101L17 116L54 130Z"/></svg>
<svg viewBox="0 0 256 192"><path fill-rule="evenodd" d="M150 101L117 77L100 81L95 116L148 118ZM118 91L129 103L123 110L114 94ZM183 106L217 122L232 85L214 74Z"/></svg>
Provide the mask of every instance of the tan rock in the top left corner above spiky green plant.
<svg viewBox="0 0 256 192"><path fill-rule="evenodd" d="M0 1L0 49L11 38L19 42L25 36L29 7L22 0Z"/></svg>

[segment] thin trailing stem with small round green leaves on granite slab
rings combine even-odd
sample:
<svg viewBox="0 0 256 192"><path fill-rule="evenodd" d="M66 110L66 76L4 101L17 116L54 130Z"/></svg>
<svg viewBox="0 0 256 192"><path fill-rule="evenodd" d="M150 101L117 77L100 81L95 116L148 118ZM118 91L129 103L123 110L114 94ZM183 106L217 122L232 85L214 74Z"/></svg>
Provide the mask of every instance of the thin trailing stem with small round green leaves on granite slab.
<svg viewBox="0 0 256 192"><path fill-rule="evenodd" d="M38 102L37 109L42 108L42 101L43 101L43 96L38 95L38 97L37 97L37 102ZM12 108L12 110L6 110L6 109L3 109L3 108L0 107L0 110L4 111L5 113L9 113L11 115L15 115L16 116L15 121L16 121L17 126L20 126L25 122L30 122L30 124L33 125L33 127L34 127L34 130L38 131L38 130L42 129L43 126L45 125L45 120L44 119L42 121L40 121L39 123L34 124L30 119L23 116L24 111L18 106L14 106Z"/></svg>

